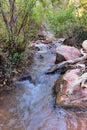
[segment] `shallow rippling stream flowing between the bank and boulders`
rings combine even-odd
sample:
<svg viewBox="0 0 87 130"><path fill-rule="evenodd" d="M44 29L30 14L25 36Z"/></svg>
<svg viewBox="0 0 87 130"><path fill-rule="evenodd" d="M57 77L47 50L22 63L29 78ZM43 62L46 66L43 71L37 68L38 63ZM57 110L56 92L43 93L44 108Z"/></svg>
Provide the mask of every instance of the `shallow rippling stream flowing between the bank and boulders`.
<svg viewBox="0 0 87 130"><path fill-rule="evenodd" d="M59 74L46 75L54 64L55 46L37 44L27 74L32 81L17 81L16 88L0 95L0 130L86 130L87 112L54 108L53 85Z"/></svg>

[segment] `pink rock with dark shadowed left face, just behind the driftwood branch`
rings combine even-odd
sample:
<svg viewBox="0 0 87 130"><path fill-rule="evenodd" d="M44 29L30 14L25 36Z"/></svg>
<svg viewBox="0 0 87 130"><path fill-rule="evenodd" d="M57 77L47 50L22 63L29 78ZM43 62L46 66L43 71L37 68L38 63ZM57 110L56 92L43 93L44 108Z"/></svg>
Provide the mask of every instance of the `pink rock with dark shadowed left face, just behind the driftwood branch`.
<svg viewBox="0 0 87 130"><path fill-rule="evenodd" d="M55 64L58 64L65 60L72 60L80 56L81 56L81 53L77 48L66 46L66 45L60 45L56 49Z"/></svg>

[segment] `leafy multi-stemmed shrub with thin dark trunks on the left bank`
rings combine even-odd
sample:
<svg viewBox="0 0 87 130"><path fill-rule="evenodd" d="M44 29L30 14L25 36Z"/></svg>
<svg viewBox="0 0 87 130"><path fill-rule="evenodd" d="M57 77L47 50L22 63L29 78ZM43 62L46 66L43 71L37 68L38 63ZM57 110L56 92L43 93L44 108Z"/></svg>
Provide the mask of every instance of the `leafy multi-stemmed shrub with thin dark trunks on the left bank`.
<svg viewBox="0 0 87 130"><path fill-rule="evenodd" d="M36 1L0 0L0 46L3 45L0 56L5 60L4 72L8 77L13 66L24 61L26 45L36 37L39 24L39 18L34 16Z"/></svg>

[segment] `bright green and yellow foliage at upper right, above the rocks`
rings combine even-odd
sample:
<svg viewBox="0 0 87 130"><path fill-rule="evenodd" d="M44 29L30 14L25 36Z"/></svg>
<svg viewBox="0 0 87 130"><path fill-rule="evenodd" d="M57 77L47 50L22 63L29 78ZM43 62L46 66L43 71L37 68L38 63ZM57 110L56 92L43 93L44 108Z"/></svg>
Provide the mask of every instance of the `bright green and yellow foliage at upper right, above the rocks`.
<svg viewBox="0 0 87 130"><path fill-rule="evenodd" d="M72 36L76 30L87 29L86 4L79 2L76 6L74 2L70 4L68 0L60 2L55 0L53 5L56 6L48 8L46 19L56 37Z"/></svg>

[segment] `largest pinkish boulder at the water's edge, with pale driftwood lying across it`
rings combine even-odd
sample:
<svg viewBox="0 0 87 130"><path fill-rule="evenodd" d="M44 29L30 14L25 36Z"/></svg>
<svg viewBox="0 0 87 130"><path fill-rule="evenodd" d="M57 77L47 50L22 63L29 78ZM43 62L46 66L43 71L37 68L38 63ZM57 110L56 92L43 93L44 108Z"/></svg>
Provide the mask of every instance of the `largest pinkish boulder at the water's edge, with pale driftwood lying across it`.
<svg viewBox="0 0 87 130"><path fill-rule="evenodd" d="M63 107L87 108L87 88L76 86L73 94L66 96L67 89L79 77L80 69L68 70L54 85L56 92L55 104Z"/></svg>

